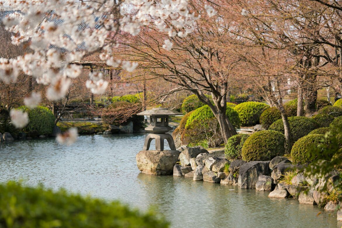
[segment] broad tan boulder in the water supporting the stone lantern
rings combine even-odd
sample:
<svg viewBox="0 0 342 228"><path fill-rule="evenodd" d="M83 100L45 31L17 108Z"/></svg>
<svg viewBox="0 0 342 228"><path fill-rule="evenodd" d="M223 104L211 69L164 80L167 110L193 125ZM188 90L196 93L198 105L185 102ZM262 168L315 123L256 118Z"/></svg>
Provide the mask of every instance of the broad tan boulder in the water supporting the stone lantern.
<svg viewBox="0 0 342 228"><path fill-rule="evenodd" d="M139 170L151 175L171 175L178 161L178 150L142 150L136 155Z"/></svg>

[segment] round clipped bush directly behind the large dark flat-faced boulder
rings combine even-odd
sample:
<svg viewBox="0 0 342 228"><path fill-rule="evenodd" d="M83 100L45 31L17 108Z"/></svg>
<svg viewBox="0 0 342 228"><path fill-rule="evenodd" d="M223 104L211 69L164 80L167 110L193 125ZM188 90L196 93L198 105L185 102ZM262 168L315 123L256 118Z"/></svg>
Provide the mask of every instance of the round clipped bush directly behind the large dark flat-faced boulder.
<svg viewBox="0 0 342 228"><path fill-rule="evenodd" d="M249 161L268 161L285 154L285 136L277 131L255 132L242 146L242 159Z"/></svg>

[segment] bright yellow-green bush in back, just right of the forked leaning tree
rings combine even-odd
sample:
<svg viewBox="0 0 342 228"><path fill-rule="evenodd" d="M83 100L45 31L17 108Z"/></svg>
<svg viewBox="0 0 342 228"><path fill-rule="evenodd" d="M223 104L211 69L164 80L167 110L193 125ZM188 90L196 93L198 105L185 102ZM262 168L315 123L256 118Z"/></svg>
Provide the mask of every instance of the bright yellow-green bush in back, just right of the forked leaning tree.
<svg viewBox="0 0 342 228"><path fill-rule="evenodd" d="M261 113L269 108L261 102L244 102L234 107L238 112L242 126L253 126L259 123Z"/></svg>

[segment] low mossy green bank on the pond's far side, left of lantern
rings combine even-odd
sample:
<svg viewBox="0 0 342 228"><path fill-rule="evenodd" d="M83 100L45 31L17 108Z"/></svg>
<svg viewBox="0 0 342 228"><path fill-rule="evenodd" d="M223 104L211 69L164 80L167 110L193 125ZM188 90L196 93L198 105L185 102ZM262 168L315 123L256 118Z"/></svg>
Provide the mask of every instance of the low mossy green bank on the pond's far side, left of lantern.
<svg viewBox="0 0 342 228"><path fill-rule="evenodd" d="M70 128L77 128L79 134L95 134L97 132L104 132L108 129L108 124L97 124L92 122L65 122L60 121L57 126L64 132Z"/></svg>

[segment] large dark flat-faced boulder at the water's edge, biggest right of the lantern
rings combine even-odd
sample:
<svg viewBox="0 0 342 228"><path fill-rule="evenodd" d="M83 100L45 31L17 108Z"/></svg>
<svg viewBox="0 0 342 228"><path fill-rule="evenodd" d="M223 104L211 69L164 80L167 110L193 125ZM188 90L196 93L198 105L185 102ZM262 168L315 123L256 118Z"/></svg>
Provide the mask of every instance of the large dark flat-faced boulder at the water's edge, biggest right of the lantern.
<svg viewBox="0 0 342 228"><path fill-rule="evenodd" d="M269 161L251 161L241 165L238 185L240 188L255 188L260 175L269 175Z"/></svg>

